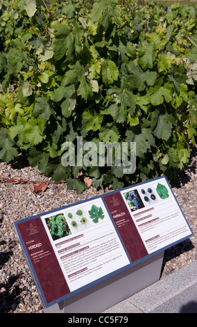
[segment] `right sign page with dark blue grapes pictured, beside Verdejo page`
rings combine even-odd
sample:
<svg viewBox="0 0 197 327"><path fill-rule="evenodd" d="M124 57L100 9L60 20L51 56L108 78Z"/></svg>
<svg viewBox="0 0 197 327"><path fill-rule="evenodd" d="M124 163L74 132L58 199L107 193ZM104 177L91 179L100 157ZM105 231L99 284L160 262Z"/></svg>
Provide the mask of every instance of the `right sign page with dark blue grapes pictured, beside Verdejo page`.
<svg viewBox="0 0 197 327"><path fill-rule="evenodd" d="M132 262L192 234L165 177L104 196L104 200Z"/></svg>

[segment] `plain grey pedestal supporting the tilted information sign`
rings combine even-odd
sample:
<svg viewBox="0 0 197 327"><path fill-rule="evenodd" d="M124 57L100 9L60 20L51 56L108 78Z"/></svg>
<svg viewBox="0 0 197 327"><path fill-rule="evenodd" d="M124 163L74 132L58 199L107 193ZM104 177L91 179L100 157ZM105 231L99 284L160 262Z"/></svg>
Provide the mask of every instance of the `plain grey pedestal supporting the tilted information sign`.
<svg viewBox="0 0 197 327"><path fill-rule="evenodd" d="M160 280L164 251L130 266L82 292L44 309L44 313L101 313Z"/></svg>

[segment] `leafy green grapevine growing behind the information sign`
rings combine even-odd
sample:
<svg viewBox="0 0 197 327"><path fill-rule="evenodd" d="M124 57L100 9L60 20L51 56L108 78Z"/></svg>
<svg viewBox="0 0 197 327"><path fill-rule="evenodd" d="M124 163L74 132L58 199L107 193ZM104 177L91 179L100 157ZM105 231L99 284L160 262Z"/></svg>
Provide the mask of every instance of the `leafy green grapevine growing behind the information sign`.
<svg viewBox="0 0 197 327"><path fill-rule="evenodd" d="M78 193L85 176L113 189L171 180L195 145L196 7L90 3L0 0L0 159L22 153ZM135 173L62 166L62 143L78 136L136 142Z"/></svg>

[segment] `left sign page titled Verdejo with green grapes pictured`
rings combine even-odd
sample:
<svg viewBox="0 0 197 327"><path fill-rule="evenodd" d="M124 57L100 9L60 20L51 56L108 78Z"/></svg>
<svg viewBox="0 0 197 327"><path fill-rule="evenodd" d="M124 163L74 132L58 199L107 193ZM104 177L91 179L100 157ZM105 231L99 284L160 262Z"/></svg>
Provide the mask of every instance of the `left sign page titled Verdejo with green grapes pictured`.
<svg viewBox="0 0 197 327"><path fill-rule="evenodd" d="M15 228L45 307L130 264L102 198L18 221Z"/></svg>

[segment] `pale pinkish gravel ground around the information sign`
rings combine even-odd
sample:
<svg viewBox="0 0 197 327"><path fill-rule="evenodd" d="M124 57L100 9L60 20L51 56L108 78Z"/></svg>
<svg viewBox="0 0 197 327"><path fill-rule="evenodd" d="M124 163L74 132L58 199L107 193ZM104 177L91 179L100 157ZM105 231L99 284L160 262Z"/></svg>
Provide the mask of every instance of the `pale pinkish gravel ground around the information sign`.
<svg viewBox="0 0 197 327"><path fill-rule="evenodd" d="M197 147L193 150L191 161L181 174L179 186L173 186L173 192L194 232L194 237L181 242L165 251L161 278L196 260L196 198L197 198ZM92 186L82 194L67 191L66 184L47 184L45 191L33 193L33 183L8 182L2 177L19 177L24 180L51 181L40 174L37 168L14 162L0 162L0 312L42 313L40 296L24 259L12 223L28 216L58 209L80 200L98 196L104 191L96 191ZM105 192L110 191L109 189Z"/></svg>

